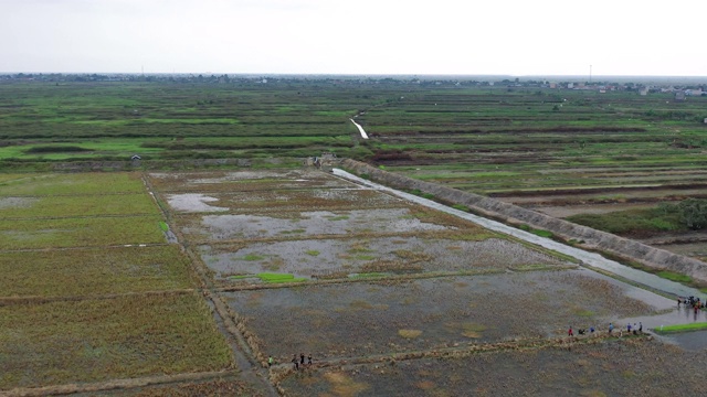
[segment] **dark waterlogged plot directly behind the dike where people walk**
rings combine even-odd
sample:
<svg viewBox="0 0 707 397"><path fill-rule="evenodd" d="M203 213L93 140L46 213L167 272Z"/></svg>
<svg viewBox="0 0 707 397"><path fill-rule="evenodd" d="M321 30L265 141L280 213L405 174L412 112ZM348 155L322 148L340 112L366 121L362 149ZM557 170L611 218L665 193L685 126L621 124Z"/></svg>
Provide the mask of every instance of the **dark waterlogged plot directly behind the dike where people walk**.
<svg viewBox="0 0 707 397"><path fill-rule="evenodd" d="M281 362L430 350L454 343L559 336L568 326L658 309L588 270L299 286L228 292L234 311ZM618 304L619 303L619 304ZM415 336L405 331L420 331Z"/></svg>

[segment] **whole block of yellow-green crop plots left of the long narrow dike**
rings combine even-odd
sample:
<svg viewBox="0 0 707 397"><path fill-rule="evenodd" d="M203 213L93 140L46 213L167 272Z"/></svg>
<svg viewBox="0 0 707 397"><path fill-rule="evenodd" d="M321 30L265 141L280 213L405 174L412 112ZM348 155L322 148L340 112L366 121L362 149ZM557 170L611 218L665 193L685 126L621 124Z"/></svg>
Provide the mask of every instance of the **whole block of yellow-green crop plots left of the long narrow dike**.
<svg viewBox="0 0 707 397"><path fill-rule="evenodd" d="M139 174L2 176L0 390L234 367Z"/></svg>

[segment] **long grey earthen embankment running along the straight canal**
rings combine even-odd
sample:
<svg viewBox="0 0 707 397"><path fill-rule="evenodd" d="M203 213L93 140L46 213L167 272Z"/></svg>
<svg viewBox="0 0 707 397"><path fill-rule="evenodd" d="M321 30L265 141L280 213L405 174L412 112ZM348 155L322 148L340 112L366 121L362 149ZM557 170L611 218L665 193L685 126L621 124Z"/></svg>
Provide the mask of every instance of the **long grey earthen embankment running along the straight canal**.
<svg viewBox="0 0 707 397"><path fill-rule="evenodd" d="M472 212L509 225L529 225L534 228L552 232L564 240L576 240L576 245L597 251L604 251L624 260L639 262L655 270L671 270L690 276L698 282L707 285L707 264L664 249L619 237L609 233L576 225L545 214L500 202L474 193L441 186L434 183L413 180L403 175L387 172L369 164L346 159L341 167L354 170L359 175L368 175L374 182L400 190L419 190L430 193L435 198L467 206Z"/></svg>

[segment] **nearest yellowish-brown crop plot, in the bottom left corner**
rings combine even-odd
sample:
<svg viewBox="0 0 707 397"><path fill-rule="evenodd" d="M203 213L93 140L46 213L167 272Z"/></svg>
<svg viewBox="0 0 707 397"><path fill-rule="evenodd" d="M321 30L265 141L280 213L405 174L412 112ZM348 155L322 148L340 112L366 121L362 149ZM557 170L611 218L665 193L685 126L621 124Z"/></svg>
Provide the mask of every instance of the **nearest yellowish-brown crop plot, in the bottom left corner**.
<svg viewBox="0 0 707 397"><path fill-rule="evenodd" d="M232 365L231 350L196 292L7 304L0 318L0 389Z"/></svg>

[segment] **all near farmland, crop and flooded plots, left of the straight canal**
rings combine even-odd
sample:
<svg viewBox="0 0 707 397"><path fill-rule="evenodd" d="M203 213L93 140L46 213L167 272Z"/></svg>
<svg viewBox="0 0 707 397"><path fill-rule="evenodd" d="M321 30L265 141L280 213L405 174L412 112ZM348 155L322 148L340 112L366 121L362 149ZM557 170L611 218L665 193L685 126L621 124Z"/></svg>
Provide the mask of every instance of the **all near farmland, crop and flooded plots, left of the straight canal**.
<svg viewBox="0 0 707 397"><path fill-rule="evenodd" d="M536 366L547 376L534 388L612 393L658 369L641 364L646 369L603 384L606 372L650 362L656 350L669 363L703 360L643 334L606 334L612 321L648 324L675 312L672 300L315 169L59 174L54 184L52 175L7 180L23 201L0 191L0 214L11 215L6 234L34 226L49 236L73 227L101 235L109 223L109 238L139 236L114 222L129 218L156 237L71 245L25 234L22 248L2 249L0 387L10 395L38 387L50 395L381 395L392 385L444 395L465 382L493 395L502 378L485 371L523 378ZM92 178L123 187L101 193ZM52 194L72 184L81 186L75 194ZM28 208L45 197L57 205L33 217ZM125 198L137 214L109 204ZM73 211L82 203L113 210L84 216ZM54 218L65 222L61 229L46 226ZM597 332L567 339L568 324ZM295 372L292 355L300 352L313 365ZM487 369L463 369L482 362ZM593 369L558 384L557 368L574 362Z"/></svg>

